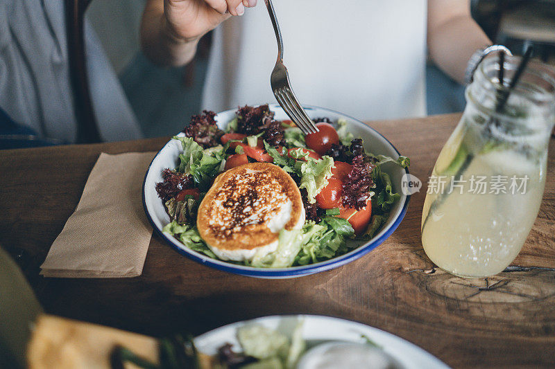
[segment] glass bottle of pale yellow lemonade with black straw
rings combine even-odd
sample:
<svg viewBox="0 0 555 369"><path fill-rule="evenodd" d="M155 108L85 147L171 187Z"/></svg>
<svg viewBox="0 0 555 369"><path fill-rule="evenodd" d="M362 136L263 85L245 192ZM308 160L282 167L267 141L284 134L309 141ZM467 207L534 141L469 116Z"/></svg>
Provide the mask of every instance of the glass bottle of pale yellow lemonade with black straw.
<svg viewBox="0 0 555 369"><path fill-rule="evenodd" d="M543 197L549 136L555 124L555 71L529 62L486 57L466 89L459 125L438 156L422 210L422 245L441 269L482 278L515 259ZM499 101L509 96L499 109Z"/></svg>

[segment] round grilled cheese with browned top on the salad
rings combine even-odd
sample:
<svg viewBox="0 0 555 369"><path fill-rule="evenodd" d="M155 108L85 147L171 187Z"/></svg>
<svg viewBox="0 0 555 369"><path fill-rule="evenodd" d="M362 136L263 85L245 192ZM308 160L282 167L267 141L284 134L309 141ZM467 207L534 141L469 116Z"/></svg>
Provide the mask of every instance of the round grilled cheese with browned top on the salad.
<svg viewBox="0 0 555 369"><path fill-rule="evenodd" d="M280 231L300 229L305 208L291 176L271 163L223 172L198 207L200 237L222 260L252 260L278 248Z"/></svg>

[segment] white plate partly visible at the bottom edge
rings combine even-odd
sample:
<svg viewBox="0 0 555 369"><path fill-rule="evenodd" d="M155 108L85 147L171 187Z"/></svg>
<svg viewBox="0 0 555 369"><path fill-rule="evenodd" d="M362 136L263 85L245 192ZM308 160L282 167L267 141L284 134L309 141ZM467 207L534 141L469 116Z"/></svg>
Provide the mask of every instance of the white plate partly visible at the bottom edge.
<svg viewBox="0 0 555 369"><path fill-rule="evenodd" d="M196 337L196 348L205 354L216 354L218 348L225 343L231 343L234 350L241 347L237 341L237 329L252 323L262 324L273 330L278 330L287 336L302 320L302 337L307 345L321 343L322 341L348 341L364 342L361 336L379 345L386 353L399 361L407 369L445 369L449 368L441 360L429 352L422 350L417 345L395 336L394 334L378 330L361 323L346 321L340 318L318 315L290 315L290 316L264 316L250 321L241 321L224 325Z"/></svg>

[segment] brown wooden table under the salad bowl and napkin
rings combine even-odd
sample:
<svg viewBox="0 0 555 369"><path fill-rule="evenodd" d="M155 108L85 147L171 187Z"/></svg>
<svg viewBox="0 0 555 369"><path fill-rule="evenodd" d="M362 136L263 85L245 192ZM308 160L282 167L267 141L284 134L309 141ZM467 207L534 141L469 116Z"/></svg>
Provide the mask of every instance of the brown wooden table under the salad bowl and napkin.
<svg viewBox="0 0 555 369"><path fill-rule="evenodd" d="M371 126L411 158L427 181L459 115ZM432 269L420 243L425 197L411 197L400 227L344 267L290 280L216 271L153 237L143 275L53 279L39 265L74 211L100 152L159 150L167 138L0 152L0 244L17 261L46 312L144 334L201 333L270 314L325 314L392 332L454 367L555 366L555 142L540 214L513 265L486 280Z"/></svg>

